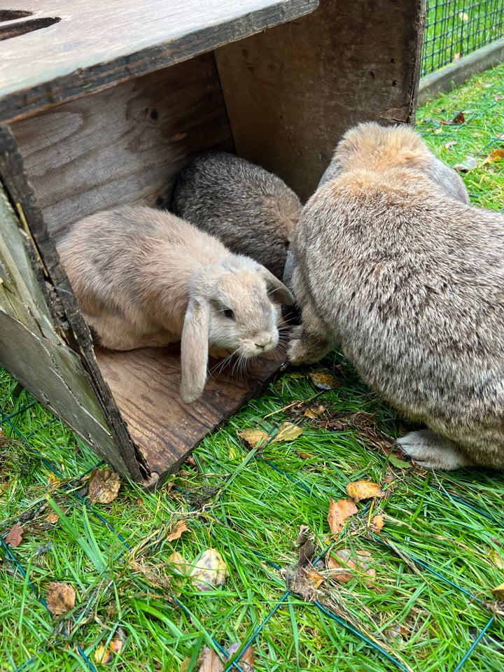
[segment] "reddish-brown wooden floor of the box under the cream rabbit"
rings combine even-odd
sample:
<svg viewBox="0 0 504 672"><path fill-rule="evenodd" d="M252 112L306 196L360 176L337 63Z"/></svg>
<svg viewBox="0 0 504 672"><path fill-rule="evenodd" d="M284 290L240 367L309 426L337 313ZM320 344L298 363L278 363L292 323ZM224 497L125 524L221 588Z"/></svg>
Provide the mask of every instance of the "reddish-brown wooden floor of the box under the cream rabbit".
<svg viewBox="0 0 504 672"><path fill-rule="evenodd" d="M216 429L253 395L265 388L282 360L260 357L242 376L232 366L209 377L203 395L192 404L179 397L179 345L127 352L96 349L102 375L123 420L151 472L160 482L176 471L204 435ZM217 365L211 360L209 369Z"/></svg>

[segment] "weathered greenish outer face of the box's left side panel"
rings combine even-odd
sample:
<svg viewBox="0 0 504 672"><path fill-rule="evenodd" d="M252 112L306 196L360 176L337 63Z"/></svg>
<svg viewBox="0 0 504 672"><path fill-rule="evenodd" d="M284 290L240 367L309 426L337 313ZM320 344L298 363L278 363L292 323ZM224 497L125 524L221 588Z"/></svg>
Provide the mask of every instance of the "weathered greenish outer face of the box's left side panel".
<svg viewBox="0 0 504 672"><path fill-rule="evenodd" d="M123 456L78 357L57 334L31 267L26 238L0 189L0 363L97 454L126 474Z"/></svg>

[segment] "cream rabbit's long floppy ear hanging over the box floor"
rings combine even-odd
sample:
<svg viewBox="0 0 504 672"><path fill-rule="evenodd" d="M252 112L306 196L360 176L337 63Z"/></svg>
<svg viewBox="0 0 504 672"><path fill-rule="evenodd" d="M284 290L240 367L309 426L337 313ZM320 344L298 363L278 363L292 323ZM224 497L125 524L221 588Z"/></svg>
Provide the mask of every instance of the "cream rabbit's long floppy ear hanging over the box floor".
<svg viewBox="0 0 504 672"><path fill-rule="evenodd" d="M189 404L203 392L207 381L209 303L191 297L184 319L181 339L181 400Z"/></svg>

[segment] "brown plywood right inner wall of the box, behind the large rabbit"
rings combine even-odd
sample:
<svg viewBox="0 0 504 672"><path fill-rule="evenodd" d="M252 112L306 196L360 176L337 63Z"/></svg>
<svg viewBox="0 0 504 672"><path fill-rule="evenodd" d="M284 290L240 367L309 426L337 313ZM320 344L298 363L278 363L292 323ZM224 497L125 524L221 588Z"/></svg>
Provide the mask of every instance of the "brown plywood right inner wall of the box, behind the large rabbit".
<svg viewBox="0 0 504 672"><path fill-rule="evenodd" d="M422 27L422 0L321 0L216 50L237 154L309 197L349 127L412 122Z"/></svg>

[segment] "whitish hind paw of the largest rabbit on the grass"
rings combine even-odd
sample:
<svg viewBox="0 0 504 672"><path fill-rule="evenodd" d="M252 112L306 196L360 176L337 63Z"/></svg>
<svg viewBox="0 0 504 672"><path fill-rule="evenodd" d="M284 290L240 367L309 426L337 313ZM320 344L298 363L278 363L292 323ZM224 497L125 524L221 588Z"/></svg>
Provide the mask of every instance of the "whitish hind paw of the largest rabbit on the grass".
<svg viewBox="0 0 504 672"><path fill-rule="evenodd" d="M406 457L427 469L451 471L473 464L456 444L430 429L409 432L397 443Z"/></svg>

